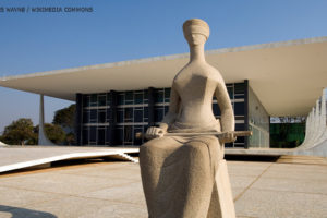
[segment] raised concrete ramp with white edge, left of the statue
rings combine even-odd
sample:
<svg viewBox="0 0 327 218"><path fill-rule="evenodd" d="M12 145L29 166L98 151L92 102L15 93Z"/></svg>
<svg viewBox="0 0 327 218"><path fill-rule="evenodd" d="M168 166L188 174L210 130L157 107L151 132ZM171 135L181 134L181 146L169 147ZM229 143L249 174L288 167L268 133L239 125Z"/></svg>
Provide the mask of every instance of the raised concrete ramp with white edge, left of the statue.
<svg viewBox="0 0 327 218"><path fill-rule="evenodd" d="M59 160L95 157L137 162L129 154L138 154L138 147L8 146L0 148L0 173L29 167L48 167Z"/></svg>

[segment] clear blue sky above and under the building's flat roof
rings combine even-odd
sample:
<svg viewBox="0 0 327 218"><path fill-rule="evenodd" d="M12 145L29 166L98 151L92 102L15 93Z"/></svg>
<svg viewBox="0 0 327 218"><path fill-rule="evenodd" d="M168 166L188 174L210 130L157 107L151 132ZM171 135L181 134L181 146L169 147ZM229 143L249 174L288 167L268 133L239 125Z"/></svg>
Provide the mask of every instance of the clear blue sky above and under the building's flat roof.
<svg viewBox="0 0 327 218"><path fill-rule="evenodd" d="M1 0L1 7L93 7L93 13L1 13L0 76L187 52L181 26L208 22L206 49L327 36L326 0ZM58 84L60 85L60 84ZM38 122L35 94L0 87L0 133ZM46 98L46 121L70 105Z"/></svg>

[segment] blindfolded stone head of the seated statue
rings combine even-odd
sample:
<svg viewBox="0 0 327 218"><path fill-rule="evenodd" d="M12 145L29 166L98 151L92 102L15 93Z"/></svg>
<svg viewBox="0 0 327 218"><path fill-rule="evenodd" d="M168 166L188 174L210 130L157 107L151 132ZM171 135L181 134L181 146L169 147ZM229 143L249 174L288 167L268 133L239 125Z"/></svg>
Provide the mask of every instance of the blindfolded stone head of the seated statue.
<svg viewBox="0 0 327 218"><path fill-rule="evenodd" d="M183 24L184 37L190 46L206 43L210 35L209 25L201 19L191 19Z"/></svg>

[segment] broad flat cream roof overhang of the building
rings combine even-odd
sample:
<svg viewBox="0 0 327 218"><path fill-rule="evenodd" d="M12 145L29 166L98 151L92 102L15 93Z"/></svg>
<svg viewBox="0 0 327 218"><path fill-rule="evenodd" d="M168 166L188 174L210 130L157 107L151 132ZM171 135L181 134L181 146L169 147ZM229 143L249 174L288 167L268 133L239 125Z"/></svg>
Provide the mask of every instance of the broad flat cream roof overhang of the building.
<svg viewBox="0 0 327 218"><path fill-rule="evenodd" d="M206 51L226 83L249 80L270 116L307 114L327 87L327 37ZM189 53L0 78L0 86L75 100L75 94L171 86Z"/></svg>

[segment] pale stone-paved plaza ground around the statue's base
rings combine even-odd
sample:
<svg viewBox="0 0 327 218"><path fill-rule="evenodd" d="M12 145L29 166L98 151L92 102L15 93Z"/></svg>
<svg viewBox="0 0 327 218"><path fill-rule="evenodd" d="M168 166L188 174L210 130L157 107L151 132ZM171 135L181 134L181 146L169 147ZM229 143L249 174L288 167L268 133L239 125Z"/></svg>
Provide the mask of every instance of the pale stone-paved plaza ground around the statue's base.
<svg viewBox="0 0 327 218"><path fill-rule="evenodd" d="M327 165L228 161L239 218L327 217ZM138 164L0 174L1 218L146 218Z"/></svg>

